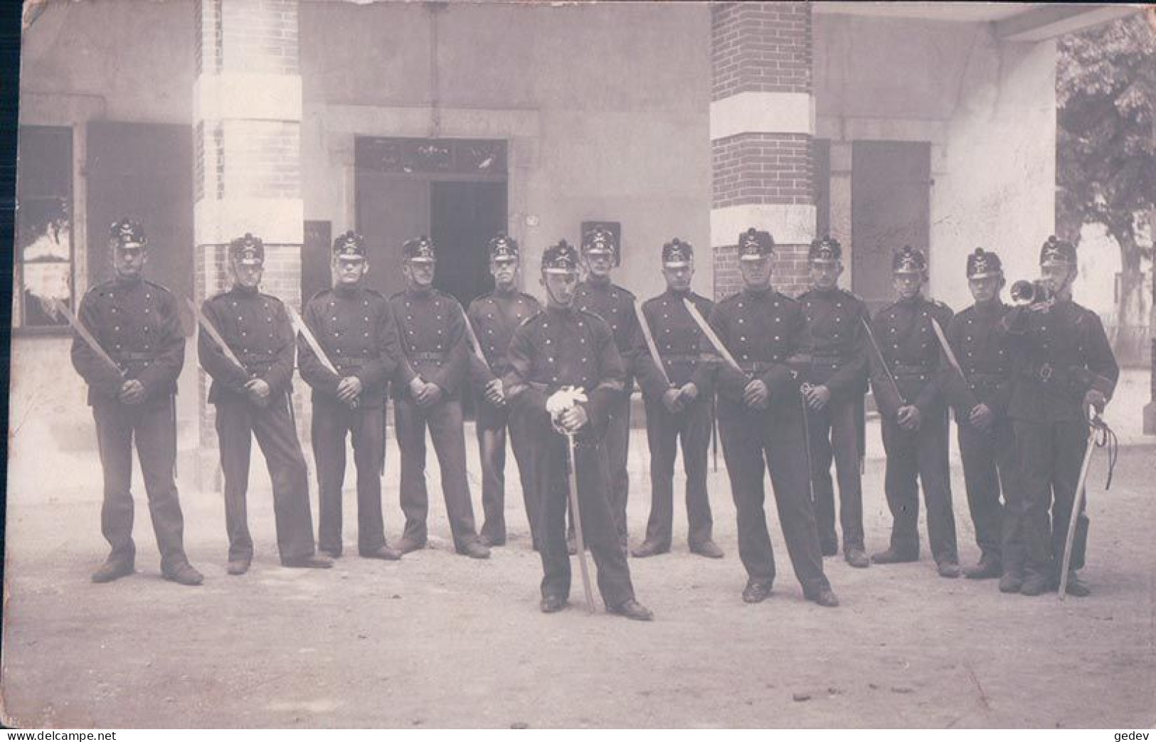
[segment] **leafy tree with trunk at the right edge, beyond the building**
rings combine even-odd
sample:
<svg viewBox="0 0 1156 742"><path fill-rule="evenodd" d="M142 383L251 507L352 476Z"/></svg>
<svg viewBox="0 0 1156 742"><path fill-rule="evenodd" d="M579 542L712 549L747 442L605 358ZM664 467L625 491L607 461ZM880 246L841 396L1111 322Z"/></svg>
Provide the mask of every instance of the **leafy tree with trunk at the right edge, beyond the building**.
<svg viewBox="0 0 1156 742"><path fill-rule="evenodd" d="M1119 321L1138 325L1151 257L1138 221L1156 209L1156 9L1060 39L1055 82L1058 230L1077 240L1104 225L1120 246Z"/></svg>

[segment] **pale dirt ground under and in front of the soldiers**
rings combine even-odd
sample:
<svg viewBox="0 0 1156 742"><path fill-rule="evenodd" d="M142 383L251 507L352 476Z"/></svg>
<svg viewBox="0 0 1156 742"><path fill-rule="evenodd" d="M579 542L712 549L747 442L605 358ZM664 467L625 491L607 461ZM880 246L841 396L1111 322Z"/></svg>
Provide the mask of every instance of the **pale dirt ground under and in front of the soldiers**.
<svg viewBox="0 0 1156 742"><path fill-rule="evenodd" d="M877 442L877 430L869 435ZM632 543L649 509L644 439L636 431ZM918 564L853 570L829 558L843 606L820 608L802 599L771 507L779 576L768 601L747 606L720 468L710 485L726 558L687 551L679 504L674 551L630 562L651 624L601 606L587 615L577 569L570 608L539 613L540 562L512 463L510 544L488 562L453 555L432 458L431 548L399 563L347 556L329 571L280 567L267 481L254 475L258 555L247 576L224 573L220 495L184 487L188 554L206 583L163 581L138 489L139 572L94 585L106 551L95 459L42 451L10 472L2 662L13 726L1135 728L1156 718L1150 443L1121 450L1110 492L1096 459L1083 572L1091 598L1029 599L1001 595L994 581L941 579L925 543ZM393 539L397 461L391 442ZM868 550L885 546L890 524L881 484L873 451ZM977 549L957 463L953 484L968 564ZM351 480L346 496L349 554Z"/></svg>

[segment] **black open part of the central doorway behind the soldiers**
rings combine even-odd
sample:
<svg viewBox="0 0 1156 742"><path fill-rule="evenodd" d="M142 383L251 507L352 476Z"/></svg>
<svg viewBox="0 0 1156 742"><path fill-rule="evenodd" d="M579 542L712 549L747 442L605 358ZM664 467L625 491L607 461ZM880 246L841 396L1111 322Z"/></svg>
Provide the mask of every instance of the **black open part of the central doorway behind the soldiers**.
<svg viewBox="0 0 1156 742"><path fill-rule="evenodd" d="M504 183L432 184L430 238L437 245L433 285L462 306L492 290L488 245L506 228Z"/></svg>

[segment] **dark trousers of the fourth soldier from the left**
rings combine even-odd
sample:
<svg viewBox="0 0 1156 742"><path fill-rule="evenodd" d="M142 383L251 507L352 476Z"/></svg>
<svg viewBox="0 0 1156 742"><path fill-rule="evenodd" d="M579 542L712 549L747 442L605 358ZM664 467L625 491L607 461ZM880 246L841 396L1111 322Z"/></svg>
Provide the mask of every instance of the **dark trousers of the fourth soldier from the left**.
<svg viewBox="0 0 1156 742"><path fill-rule="evenodd" d="M474 528L474 505L466 478L466 433L462 429L461 401L443 400L430 407L418 407L413 400L394 400L393 423L401 452L401 512L406 514L403 536L425 543L429 515L429 492L425 489L425 426L429 425L433 450L442 469L442 494L450 519L453 546L459 551L477 541Z"/></svg>

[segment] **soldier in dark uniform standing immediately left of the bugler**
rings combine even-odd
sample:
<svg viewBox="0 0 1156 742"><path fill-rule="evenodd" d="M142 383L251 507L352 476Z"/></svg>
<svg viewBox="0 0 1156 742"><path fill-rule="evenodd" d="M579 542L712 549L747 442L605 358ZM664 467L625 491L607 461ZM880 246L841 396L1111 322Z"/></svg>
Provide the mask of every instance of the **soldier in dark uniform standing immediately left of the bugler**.
<svg viewBox="0 0 1156 742"><path fill-rule="evenodd" d="M979 564L963 571L971 579L1006 574L1001 585L1018 592L1022 544L1005 541L1003 502L1015 484L1015 435L1007 417L1011 395L1011 356L1000 320L1008 305L1000 300L1000 257L977 247L968 255L968 287L976 303L954 318L947 339L963 378L950 374L944 388L955 408L968 507L976 525ZM1001 487L1002 485L1002 487ZM1017 577L1018 576L1018 577Z"/></svg>

